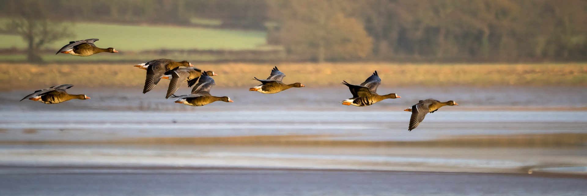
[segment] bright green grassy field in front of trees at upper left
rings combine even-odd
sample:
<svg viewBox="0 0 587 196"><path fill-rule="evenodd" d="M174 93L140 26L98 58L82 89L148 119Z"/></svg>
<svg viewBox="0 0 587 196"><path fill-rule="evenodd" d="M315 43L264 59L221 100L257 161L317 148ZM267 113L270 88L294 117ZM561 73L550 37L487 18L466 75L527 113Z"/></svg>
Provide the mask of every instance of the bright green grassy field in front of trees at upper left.
<svg viewBox="0 0 587 196"><path fill-rule="evenodd" d="M0 25L6 21L0 20ZM72 40L98 38L96 46L114 47L121 53L157 49L244 50L264 47L266 37L265 32L253 30L101 23L75 23L72 30L75 37L59 40L47 48L59 50ZM0 49L12 47L25 49L26 43L21 36L0 35Z"/></svg>

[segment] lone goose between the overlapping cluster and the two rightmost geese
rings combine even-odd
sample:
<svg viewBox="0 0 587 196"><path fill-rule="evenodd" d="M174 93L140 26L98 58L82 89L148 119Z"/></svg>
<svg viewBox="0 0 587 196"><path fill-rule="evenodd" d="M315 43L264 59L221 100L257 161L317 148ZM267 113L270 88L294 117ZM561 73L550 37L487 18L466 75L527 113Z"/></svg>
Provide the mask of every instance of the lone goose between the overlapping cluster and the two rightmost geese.
<svg viewBox="0 0 587 196"><path fill-rule="evenodd" d="M281 81L284 79L284 77L285 74L279 71L277 67L274 67L271 70L271 75L269 75L267 80L259 80L257 77L255 77L253 80L257 80L262 84L258 85L257 87L249 88L249 91L257 91L261 92L262 94L274 94L292 87L305 87L300 82L295 82L294 84L284 84L284 82Z"/></svg>

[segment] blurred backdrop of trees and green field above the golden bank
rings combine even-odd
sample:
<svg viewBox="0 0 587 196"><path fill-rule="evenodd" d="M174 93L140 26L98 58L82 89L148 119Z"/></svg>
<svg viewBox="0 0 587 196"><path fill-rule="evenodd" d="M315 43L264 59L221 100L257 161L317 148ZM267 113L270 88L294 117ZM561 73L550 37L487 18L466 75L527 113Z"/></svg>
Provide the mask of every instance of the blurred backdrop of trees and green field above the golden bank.
<svg viewBox="0 0 587 196"><path fill-rule="evenodd" d="M583 61L585 10L583 0L2 0L0 61L89 38L128 60Z"/></svg>

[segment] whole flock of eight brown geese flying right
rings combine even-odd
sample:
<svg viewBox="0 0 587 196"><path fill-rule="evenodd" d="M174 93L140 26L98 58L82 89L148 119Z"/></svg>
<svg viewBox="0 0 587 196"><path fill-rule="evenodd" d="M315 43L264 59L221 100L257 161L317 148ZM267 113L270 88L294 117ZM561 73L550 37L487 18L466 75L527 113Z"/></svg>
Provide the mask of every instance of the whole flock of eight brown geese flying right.
<svg viewBox="0 0 587 196"><path fill-rule="evenodd" d="M90 56L97 53L118 53L114 48L109 47L107 49L101 49L97 47L94 42L99 39L86 39L69 42L69 44L63 46L56 54L65 53L73 56ZM167 88L167 94L165 98L176 98L174 102L178 104L185 104L190 106L204 106L211 104L215 101L234 102L230 97L216 97L210 94L210 90L216 83L212 76L217 75L214 71L204 71L200 68L194 67L188 61L174 61L170 59L156 59L147 63L137 64L134 67L138 67L147 70L145 77L145 84L143 87L143 94L153 90L158 82L163 78L170 80L169 87ZM249 91L257 91L262 94L274 94L281 91L288 90L289 88L301 88L305 87L300 82L293 84L285 84L282 80L285 74L277 67L271 70L271 74L266 80L258 79L253 77L252 80L261 82L261 85L249 88ZM188 87L194 87L189 95L174 95L181 85L187 82ZM345 99L342 105L354 105L354 106L369 106L377 102L383 101L384 99L396 99L401 98L395 93L386 95L377 94L377 87L381 84L381 78L375 71L372 75L360 85L353 85L349 82L343 81L342 84L349 87L352 98ZM24 99L31 99L32 101L39 101L43 104L59 104L61 102L69 101L71 99L90 99L87 95L72 95L68 94L66 90L73 87L71 84L63 84L55 87L45 88L38 90L32 94L26 95ZM434 113L442 106L453 106L458 105L454 101L441 102L436 99L420 100L417 104L412 105L410 108L404 109L404 111L411 112L410 124L408 130L411 131L416 129L426 114Z"/></svg>

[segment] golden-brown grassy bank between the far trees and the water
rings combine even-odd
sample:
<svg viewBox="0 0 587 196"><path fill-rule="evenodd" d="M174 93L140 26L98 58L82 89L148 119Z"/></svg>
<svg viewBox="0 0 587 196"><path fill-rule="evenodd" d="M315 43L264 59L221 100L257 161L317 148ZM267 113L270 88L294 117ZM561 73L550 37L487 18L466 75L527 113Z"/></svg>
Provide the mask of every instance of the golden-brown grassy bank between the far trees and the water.
<svg viewBox="0 0 587 196"><path fill-rule="evenodd" d="M136 64L144 63L137 61ZM145 70L134 64L0 64L0 90L37 89L58 84L83 87L142 87ZM287 77L285 83L302 82L306 87L352 84L365 81L373 70L385 87L414 85L474 86L575 86L587 87L587 64L386 64L386 63L222 63L197 64L212 70L218 87L250 87L266 78L273 66Z"/></svg>

